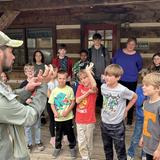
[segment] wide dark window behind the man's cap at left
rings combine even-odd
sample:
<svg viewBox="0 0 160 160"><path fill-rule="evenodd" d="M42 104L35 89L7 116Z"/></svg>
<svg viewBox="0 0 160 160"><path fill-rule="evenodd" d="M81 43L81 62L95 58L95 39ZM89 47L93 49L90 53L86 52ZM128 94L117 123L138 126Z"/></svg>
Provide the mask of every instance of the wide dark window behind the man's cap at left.
<svg viewBox="0 0 160 160"><path fill-rule="evenodd" d="M45 63L51 62L53 53L52 28L27 28L7 29L4 31L10 38L23 40L21 47L14 48L14 69L19 69L24 64L33 61L35 50L41 50L45 57Z"/></svg>

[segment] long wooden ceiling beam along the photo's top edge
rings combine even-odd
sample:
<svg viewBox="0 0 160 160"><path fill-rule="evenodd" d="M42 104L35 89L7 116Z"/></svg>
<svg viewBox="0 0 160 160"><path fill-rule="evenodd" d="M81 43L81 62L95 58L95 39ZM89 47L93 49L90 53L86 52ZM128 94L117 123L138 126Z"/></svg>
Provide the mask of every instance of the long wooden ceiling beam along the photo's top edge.
<svg viewBox="0 0 160 160"><path fill-rule="evenodd" d="M0 3L0 10L18 10L18 11L35 11L35 10L54 10L54 9L71 9L71 8L92 8L96 6L119 6L119 5L138 5L147 3L158 3L159 0L14 0L8 3Z"/></svg>

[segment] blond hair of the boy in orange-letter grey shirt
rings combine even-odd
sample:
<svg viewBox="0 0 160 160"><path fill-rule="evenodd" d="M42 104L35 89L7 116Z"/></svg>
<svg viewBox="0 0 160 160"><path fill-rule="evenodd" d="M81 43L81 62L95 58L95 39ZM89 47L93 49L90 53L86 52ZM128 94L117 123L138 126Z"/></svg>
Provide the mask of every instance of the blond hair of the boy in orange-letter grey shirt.
<svg viewBox="0 0 160 160"><path fill-rule="evenodd" d="M149 73L143 78L142 82L143 84L149 84L155 88L159 88L160 87L160 73L157 73L157 72Z"/></svg>

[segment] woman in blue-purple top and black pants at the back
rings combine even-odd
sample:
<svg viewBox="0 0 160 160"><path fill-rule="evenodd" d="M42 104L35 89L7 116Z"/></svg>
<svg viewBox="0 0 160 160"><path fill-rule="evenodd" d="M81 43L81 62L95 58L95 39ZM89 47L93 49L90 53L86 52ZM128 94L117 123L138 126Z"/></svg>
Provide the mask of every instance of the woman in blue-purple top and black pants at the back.
<svg viewBox="0 0 160 160"><path fill-rule="evenodd" d="M117 50L115 56L112 59L112 63L119 64L124 70L124 74L122 75L119 82L134 92L137 86L138 73L143 66L142 57L140 53L135 50L136 45L136 38L128 38L126 48ZM134 108L132 107L128 112L128 125L132 125L133 111Z"/></svg>

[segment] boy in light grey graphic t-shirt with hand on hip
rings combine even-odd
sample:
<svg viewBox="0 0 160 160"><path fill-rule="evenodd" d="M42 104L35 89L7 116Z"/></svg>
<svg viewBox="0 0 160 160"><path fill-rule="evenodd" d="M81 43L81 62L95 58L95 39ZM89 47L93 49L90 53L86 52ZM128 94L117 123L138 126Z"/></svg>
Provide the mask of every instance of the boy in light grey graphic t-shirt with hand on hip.
<svg viewBox="0 0 160 160"><path fill-rule="evenodd" d="M123 69L111 64L104 71L105 84L101 86L103 108L101 111L101 131L106 160L113 160L113 144L118 160L126 160L124 118L134 105L137 95L118 83ZM126 100L129 103L126 106Z"/></svg>

